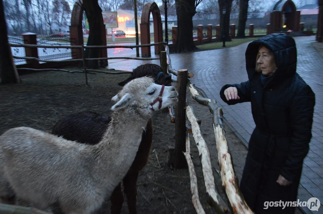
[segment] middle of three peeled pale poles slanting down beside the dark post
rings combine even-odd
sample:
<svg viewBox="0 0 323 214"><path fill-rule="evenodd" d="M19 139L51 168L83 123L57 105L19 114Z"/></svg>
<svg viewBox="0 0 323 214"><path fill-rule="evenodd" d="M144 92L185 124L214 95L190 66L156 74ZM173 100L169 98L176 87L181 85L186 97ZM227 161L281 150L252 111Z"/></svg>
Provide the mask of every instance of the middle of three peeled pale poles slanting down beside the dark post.
<svg viewBox="0 0 323 214"><path fill-rule="evenodd" d="M207 148L206 142L203 139L200 126L197 123L197 119L193 114L193 108L191 106L186 107L186 115L191 123L195 144L199 150L208 202L212 207L215 208L217 213L227 213L229 211L228 206L215 189L214 176L211 165L211 156Z"/></svg>

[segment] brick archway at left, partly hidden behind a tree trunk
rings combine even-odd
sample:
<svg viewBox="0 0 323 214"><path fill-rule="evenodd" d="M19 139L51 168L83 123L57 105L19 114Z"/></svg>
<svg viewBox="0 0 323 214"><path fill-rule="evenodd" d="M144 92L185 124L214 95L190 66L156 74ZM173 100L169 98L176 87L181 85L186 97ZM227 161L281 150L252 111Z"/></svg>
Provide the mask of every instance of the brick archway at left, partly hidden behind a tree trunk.
<svg viewBox="0 0 323 214"><path fill-rule="evenodd" d="M82 26L82 20L83 20L83 8L81 7L83 1L79 0L74 4L72 14L71 14L71 25L69 26L69 35L71 38L71 45L83 45L83 26ZM102 21L101 24L101 38L102 38L102 46L107 45L107 37L106 37L106 28L105 24ZM81 59L82 58L82 52L79 49L72 49L72 56L74 59ZM108 57L107 49L102 48L101 56L102 58ZM107 66L108 60L99 60L100 66Z"/></svg>

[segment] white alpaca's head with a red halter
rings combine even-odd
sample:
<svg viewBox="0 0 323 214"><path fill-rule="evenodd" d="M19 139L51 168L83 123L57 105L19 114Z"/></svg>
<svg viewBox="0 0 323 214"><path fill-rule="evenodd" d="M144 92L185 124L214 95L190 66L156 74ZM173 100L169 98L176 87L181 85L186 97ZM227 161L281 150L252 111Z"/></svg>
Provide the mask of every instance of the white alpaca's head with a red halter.
<svg viewBox="0 0 323 214"><path fill-rule="evenodd" d="M111 100L116 102L111 110L136 108L144 117L152 116L154 111L175 105L178 92L173 86L154 83L151 77L136 78L128 82Z"/></svg>

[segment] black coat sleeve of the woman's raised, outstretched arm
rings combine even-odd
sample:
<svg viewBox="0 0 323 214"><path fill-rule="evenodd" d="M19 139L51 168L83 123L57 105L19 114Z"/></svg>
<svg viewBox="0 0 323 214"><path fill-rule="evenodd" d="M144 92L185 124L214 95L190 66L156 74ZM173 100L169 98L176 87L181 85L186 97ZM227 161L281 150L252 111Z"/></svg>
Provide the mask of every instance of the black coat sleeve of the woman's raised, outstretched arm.
<svg viewBox="0 0 323 214"><path fill-rule="evenodd" d="M229 101L226 100L226 98L224 96L224 90L226 88L229 88L229 87L235 87L235 88L237 88L238 96L240 97L240 99L237 99L237 100L229 100ZM250 98L251 98L251 87L250 87L249 80L246 81L246 82L242 82L240 84L227 84L227 85L224 85L221 88L221 90L220 90L220 97L228 105L234 105L234 104L243 103L243 102L250 102Z"/></svg>

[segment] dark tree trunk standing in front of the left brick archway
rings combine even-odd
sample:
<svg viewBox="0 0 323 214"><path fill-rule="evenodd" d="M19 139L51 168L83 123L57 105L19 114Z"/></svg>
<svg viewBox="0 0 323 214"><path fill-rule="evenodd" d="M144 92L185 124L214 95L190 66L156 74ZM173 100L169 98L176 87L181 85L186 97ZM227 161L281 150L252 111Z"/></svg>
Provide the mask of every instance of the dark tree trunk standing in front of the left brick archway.
<svg viewBox="0 0 323 214"><path fill-rule="evenodd" d="M89 39L87 45L102 45L101 29L103 25L102 10L98 0L83 0L83 8L86 17L89 21ZM85 58L101 57L100 48L85 49ZM86 65L89 68L98 68L98 60L86 60Z"/></svg>

